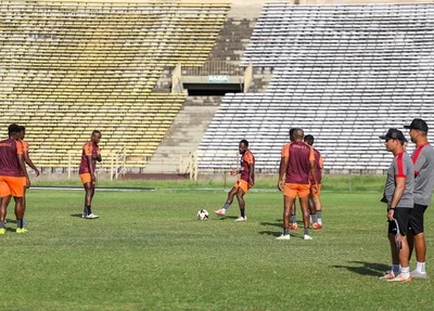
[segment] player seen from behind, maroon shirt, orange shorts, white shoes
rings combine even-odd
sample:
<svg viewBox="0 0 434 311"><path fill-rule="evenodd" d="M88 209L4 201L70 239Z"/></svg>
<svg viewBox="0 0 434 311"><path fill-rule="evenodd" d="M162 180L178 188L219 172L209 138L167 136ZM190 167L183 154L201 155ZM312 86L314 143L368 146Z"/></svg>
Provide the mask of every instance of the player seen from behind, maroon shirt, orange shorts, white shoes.
<svg viewBox="0 0 434 311"><path fill-rule="evenodd" d="M294 141L285 144L280 159L278 189L284 191L283 204L283 234L278 239L290 239L290 210L298 196L303 212L304 238L309 235L309 173L312 173L314 189L317 187L317 172L315 168L314 148L303 142L304 131L295 129ZM285 180L283 181L283 176Z"/></svg>

